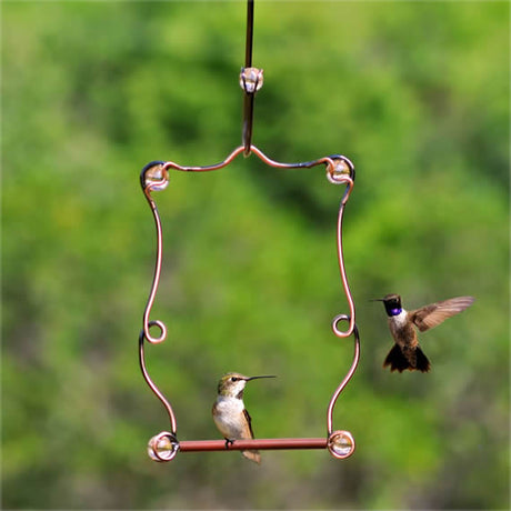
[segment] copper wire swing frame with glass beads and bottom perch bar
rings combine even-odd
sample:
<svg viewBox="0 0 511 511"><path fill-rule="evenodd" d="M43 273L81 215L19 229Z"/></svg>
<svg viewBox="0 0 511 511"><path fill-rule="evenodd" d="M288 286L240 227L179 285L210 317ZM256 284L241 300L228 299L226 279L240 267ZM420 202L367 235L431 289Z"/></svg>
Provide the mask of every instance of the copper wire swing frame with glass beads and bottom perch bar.
<svg viewBox="0 0 511 511"><path fill-rule="evenodd" d="M154 264L154 273L151 290L149 293L148 302L143 312L143 327L139 335L139 360L142 375L146 382L157 395L157 398L163 404L170 421L170 431L162 431L161 433L153 437L150 441L149 450L150 455L156 461L170 461L173 459L178 451L181 452L197 452L197 451L227 451L227 450L244 450L244 449L260 449L260 450L281 450L281 449L328 449L330 453L339 459L348 458L353 453L354 440L349 431L333 430L333 410L337 400L352 378L360 358L360 338L355 324L355 309L353 298L351 295L350 287L348 283L343 249L342 249L342 220L343 212L348 199L351 194L354 184L354 167L351 161L340 154L320 158L313 161L307 161L301 163L280 163L268 158L261 150L254 146L250 146L250 153L255 154L264 163L270 167L278 169L303 169L313 168L317 166L324 164L327 170L327 178L334 184L344 184L345 190L341 198L339 207L339 216L337 223L337 253L339 261L339 270L341 275L341 283L344 291L344 295L348 301L349 314L338 314L333 318L332 330L333 333L339 338L354 337L354 353L352 364L333 392L328 409L327 409L327 438L293 438L293 439L253 439L253 440L236 440L233 443L227 443L223 440L199 440L199 441L178 441L177 437L177 420L176 414L172 410L170 402L166 399L163 393L158 389L152 379L149 375L146 365L144 355L144 341L147 340L151 344L163 342L167 338L167 327L160 320L150 320L151 309L154 303L154 298L158 291L161 273L161 261L162 261L162 229L160 214L158 212L157 204L152 198L153 191L162 190L169 183L169 171L178 170L184 172L204 172L220 170L231 163L237 156L246 152L246 147L240 146L236 148L223 161L212 166L206 167L189 167L180 166L172 161L153 161L148 163L140 174L140 181L143 193L148 203L151 208L156 231L157 231L157 257ZM342 330L339 328L339 323L347 322L348 328ZM150 330L157 328L159 330L158 335L151 334Z"/></svg>

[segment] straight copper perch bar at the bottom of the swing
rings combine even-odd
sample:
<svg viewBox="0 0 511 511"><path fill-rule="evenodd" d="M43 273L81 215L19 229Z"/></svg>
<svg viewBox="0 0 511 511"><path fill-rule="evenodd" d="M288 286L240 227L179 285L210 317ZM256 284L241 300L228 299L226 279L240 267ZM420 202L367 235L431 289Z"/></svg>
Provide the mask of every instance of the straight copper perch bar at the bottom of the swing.
<svg viewBox="0 0 511 511"><path fill-rule="evenodd" d="M234 440L226 447L224 440L180 441L181 452L197 451L244 451L246 449L284 450L284 449L327 449L328 439L254 439Z"/></svg>

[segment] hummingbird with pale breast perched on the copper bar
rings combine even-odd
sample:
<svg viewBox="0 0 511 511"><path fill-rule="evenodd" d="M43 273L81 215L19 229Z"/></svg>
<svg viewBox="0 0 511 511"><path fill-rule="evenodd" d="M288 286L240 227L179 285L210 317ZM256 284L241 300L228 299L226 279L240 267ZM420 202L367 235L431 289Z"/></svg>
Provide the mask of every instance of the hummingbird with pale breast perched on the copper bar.
<svg viewBox="0 0 511 511"><path fill-rule="evenodd" d="M213 421L226 439L226 448L234 440L253 439L252 419L244 408L243 391L248 381L259 378L275 378L274 375L244 377L239 372L228 372L218 382L217 401L213 404ZM261 462L257 450L241 451L249 460Z"/></svg>

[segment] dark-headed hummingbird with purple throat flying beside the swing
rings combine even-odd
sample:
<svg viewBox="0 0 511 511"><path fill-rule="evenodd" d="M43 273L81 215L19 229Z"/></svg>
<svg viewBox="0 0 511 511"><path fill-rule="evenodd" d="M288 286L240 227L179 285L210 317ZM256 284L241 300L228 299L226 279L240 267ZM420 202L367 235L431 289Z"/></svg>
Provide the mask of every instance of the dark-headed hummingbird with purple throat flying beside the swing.
<svg viewBox="0 0 511 511"><path fill-rule="evenodd" d="M451 315L464 311L474 299L473 297L451 298L410 312L401 307L399 294L387 294L387 297L373 301L381 301L385 305L390 333L392 333L395 342L389 351L383 367L390 365L391 371L398 370L399 372L405 369L428 372L430 361L419 345L414 327L421 332L437 327Z"/></svg>

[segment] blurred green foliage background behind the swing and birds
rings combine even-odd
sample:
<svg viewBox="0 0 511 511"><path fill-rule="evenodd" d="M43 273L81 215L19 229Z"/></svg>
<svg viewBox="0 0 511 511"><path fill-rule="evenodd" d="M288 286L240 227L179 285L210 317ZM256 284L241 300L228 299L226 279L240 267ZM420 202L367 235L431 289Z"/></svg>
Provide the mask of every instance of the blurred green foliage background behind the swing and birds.
<svg viewBox="0 0 511 511"><path fill-rule="evenodd" d="M151 160L211 164L241 140L246 4L3 2L2 507L508 509L509 3L255 3L253 142L279 161L343 153L362 358L334 425L357 451L179 453L138 367L154 226ZM219 438L227 371L274 373L257 437L322 437L352 339L335 258L343 187L255 157L172 173L154 194L163 274L148 347L180 440ZM429 374L390 373L380 303L477 301L422 335Z"/></svg>

